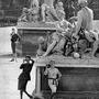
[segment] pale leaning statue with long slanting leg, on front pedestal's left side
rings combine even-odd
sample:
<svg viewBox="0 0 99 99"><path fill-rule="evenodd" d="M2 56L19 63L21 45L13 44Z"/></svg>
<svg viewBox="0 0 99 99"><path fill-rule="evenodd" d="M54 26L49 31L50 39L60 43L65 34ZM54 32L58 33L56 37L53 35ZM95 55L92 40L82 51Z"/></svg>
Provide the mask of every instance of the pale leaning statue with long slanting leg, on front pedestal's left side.
<svg viewBox="0 0 99 99"><path fill-rule="evenodd" d="M66 42L65 36L68 35L68 28L72 28L72 24L64 18L65 14L62 11L62 19L58 22L54 22L57 30L52 34L52 42L43 56L47 56L50 53L59 55L64 54L63 50Z"/></svg>

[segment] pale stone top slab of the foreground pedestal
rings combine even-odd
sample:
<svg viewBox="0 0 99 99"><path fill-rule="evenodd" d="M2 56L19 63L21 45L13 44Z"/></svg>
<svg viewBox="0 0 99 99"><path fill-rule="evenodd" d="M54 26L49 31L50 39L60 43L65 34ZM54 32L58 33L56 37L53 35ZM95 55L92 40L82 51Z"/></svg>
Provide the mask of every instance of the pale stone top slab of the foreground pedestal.
<svg viewBox="0 0 99 99"><path fill-rule="evenodd" d="M46 57L41 57L35 59L36 66L45 66L46 63L50 61L55 61L56 66L61 67L99 67L99 58L90 58L90 57L84 57L80 58L73 58L73 57L65 57L61 55L51 55Z"/></svg>

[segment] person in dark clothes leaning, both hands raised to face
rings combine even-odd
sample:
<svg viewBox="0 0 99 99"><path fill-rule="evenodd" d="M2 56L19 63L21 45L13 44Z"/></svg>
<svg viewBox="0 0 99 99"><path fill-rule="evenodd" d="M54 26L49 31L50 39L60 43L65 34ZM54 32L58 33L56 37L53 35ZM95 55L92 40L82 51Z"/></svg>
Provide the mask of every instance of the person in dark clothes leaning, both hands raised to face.
<svg viewBox="0 0 99 99"><path fill-rule="evenodd" d="M31 59L31 56L26 55L25 59L23 59L23 63L20 66L20 69L23 69L22 73L19 76L19 84L18 89L20 90L21 99L23 98L23 92L25 92L30 98L32 98L31 95L26 91L26 84L29 80L31 80L30 73L32 70L34 61Z"/></svg>

